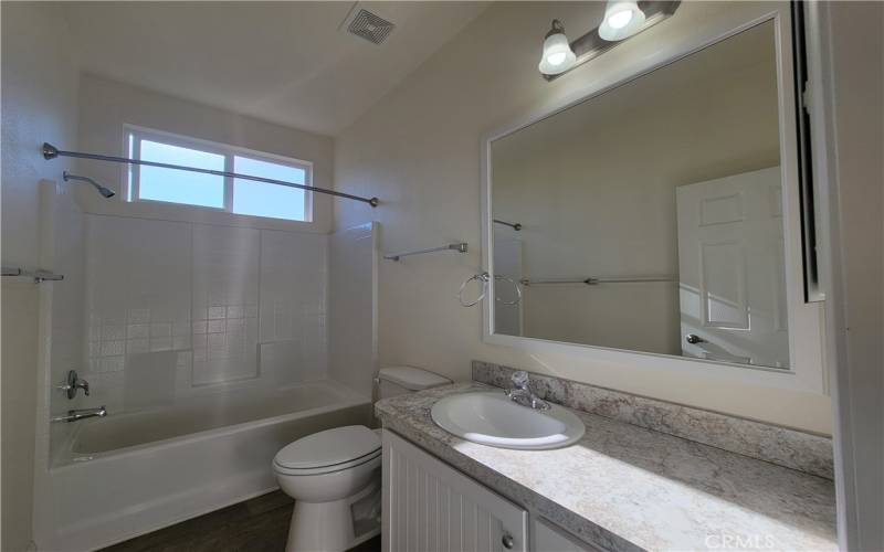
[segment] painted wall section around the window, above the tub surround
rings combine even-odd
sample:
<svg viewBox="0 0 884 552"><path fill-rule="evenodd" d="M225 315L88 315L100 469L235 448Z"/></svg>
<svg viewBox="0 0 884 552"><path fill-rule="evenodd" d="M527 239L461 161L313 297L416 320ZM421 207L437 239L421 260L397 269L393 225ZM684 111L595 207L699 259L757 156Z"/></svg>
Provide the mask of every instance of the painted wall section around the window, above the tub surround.
<svg viewBox="0 0 884 552"><path fill-rule="evenodd" d="M84 74L81 76L80 83L80 148L83 151L123 156L123 127L129 124L312 161L314 163L313 185L318 188L332 188L333 185L334 145L332 138L95 75ZM55 144L55 146L65 149L63 144ZM117 192L125 174L125 166L98 161L81 161L77 170ZM333 200L329 195L318 193L313 198L314 222L304 223L255 219L173 204L127 203L123 200L122 194L107 201L95 193L87 192L91 191L81 191L78 199L84 209L93 213L323 233L330 232L333 227Z"/></svg>

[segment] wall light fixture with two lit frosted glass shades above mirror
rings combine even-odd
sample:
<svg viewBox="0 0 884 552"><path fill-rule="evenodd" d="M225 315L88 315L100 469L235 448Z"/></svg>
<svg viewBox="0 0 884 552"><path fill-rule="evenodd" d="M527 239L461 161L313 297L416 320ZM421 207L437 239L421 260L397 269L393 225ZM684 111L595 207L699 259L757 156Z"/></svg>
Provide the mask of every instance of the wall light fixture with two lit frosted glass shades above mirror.
<svg viewBox="0 0 884 552"><path fill-rule="evenodd" d="M540 74L547 81L564 75L624 39L660 23L675 13L681 3L681 0L609 0L601 24L570 43L561 22L552 20L552 30L544 40L544 53L538 65Z"/></svg>

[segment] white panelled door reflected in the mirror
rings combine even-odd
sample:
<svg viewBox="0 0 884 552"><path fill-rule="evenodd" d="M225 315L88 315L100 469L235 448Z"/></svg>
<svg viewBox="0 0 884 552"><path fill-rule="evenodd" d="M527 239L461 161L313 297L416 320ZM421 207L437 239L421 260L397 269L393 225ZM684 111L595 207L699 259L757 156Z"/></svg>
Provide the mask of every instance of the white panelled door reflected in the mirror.
<svg viewBox="0 0 884 552"><path fill-rule="evenodd" d="M789 367L780 169L676 189L682 350Z"/></svg>

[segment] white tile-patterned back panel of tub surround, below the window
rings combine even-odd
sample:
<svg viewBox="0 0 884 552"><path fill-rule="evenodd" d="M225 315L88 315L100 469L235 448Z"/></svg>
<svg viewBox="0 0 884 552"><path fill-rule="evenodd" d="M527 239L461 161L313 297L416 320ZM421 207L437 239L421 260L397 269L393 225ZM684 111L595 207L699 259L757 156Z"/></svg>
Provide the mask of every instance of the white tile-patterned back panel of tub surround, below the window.
<svg viewBox="0 0 884 552"><path fill-rule="evenodd" d="M85 219L84 403L117 414L326 376L328 236Z"/></svg>

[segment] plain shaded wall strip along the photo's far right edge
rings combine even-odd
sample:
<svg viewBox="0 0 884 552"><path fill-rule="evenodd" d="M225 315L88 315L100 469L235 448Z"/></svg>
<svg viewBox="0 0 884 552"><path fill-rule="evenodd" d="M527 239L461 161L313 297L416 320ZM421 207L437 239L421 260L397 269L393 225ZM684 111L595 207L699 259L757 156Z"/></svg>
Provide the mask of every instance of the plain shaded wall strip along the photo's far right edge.
<svg viewBox="0 0 884 552"><path fill-rule="evenodd" d="M884 6L821 2L815 170L836 410L842 550L884 550ZM824 116L823 116L824 115ZM825 163L823 163L823 160ZM824 265L825 266L825 265Z"/></svg>

